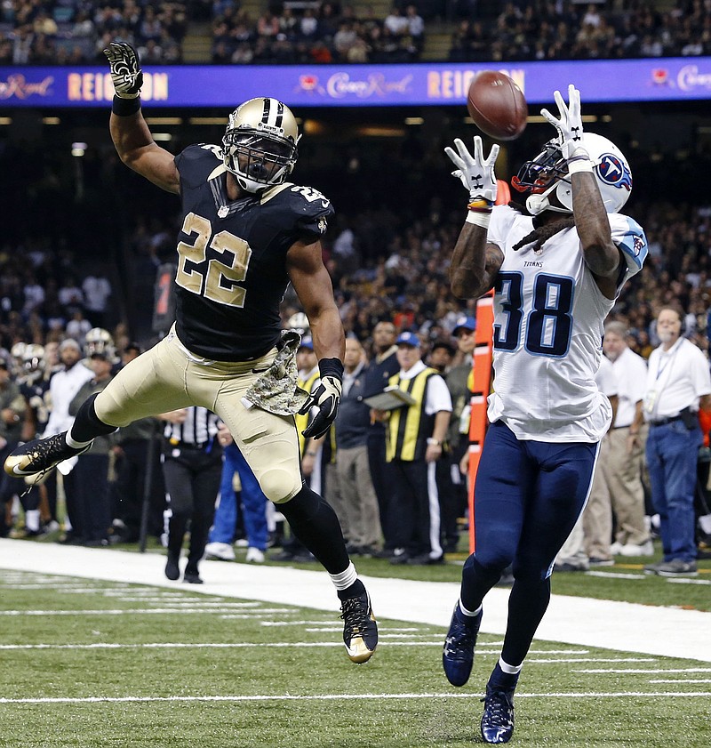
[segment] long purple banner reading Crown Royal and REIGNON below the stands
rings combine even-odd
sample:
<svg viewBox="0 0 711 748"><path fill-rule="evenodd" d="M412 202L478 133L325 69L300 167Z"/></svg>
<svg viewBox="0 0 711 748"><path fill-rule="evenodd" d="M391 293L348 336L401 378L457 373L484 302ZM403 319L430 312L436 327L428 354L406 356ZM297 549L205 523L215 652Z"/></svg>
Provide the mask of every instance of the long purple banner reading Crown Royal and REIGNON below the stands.
<svg viewBox="0 0 711 748"><path fill-rule="evenodd" d="M514 78L531 104L576 84L583 101L696 101L711 98L711 58L576 60L417 65L173 66L144 68L147 107L226 107L273 96L293 107L463 104L472 77L496 68ZM0 68L0 109L106 107L108 69Z"/></svg>

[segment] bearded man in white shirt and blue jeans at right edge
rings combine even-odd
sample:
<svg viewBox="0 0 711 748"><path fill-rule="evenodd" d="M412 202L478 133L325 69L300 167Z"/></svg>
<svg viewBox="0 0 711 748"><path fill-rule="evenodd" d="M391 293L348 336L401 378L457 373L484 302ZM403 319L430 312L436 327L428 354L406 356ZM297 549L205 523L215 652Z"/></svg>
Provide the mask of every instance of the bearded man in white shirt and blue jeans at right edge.
<svg viewBox="0 0 711 748"><path fill-rule="evenodd" d="M695 576L694 490L696 462L703 436L699 407L711 410L708 361L681 337L682 316L663 307L657 317L661 345L651 351L644 393L644 415L650 425L647 467L651 501L659 513L664 559L644 571L661 576Z"/></svg>

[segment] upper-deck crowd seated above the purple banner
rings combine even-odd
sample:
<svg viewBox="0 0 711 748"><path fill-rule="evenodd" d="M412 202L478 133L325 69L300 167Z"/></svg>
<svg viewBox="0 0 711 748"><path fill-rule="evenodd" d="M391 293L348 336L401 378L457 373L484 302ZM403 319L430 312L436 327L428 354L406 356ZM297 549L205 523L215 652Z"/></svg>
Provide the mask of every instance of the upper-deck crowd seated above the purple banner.
<svg viewBox="0 0 711 748"><path fill-rule="evenodd" d="M178 63L190 23L206 17L212 62L219 64L417 61L433 18L451 24L449 60L457 62L711 53L711 8L704 0L676 0L664 9L650 0L481 7L404 0L385 17L370 5L325 0L264 5L253 18L238 0L6 0L0 5L0 65L103 63L101 50L116 38L134 44L144 63Z"/></svg>

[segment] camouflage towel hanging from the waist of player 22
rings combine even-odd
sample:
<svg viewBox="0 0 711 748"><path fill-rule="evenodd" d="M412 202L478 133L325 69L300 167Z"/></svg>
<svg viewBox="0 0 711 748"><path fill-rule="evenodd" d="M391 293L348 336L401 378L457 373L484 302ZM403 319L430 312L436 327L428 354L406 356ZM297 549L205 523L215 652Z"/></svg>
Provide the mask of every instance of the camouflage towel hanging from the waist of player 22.
<svg viewBox="0 0 711 748"><path fill-rule="evenodd" d="M293 415L307 401L308 392L296 383L296 351L301 336L292 330L282 330L282 340L268 370L261 374L247 390L242 402L245 407L260 407L276 415Z"/></svg>

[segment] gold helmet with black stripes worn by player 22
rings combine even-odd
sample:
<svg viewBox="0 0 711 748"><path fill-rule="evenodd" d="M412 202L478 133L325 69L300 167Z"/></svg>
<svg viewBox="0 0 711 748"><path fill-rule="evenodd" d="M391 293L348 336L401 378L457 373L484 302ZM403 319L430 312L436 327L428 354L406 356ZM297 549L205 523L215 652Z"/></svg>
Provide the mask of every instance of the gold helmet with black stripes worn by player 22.
<svg viewBox="0 0 711 748"><path fill-rule="evenodd" d="M299 126L282 101L250 99L229 116L222 139L228 171L247 192L281 184L296 165Z"/></svg>

